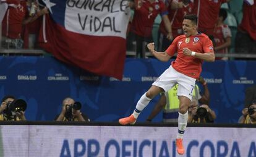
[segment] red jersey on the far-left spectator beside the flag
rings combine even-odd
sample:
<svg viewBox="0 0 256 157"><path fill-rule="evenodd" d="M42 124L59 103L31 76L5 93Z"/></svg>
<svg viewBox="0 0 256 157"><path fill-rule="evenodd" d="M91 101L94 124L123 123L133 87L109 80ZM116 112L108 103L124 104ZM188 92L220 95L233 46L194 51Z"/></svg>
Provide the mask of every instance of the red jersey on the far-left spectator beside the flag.
<svg viewBox="0 0 256 157"><path fill-rule="evenodd" d="M27 14L26 1L20 1L17 7L9 6L2 20L2 35L13 39L21 38L22 22Z"/></svg>

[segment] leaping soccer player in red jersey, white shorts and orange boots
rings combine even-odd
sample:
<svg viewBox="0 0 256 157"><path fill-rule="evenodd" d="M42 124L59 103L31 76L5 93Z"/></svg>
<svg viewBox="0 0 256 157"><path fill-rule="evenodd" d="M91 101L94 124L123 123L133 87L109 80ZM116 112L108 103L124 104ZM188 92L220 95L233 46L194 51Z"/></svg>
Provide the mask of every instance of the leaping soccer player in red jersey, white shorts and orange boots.
<svg viewBox="0 0 256 157"><path fill-rule="evenodd" d="M177 153L184 154L182 139L187 127L188 108L192 99L192 91L195 80L202 71L202 62L215 61L213 43L207 35L197 32L197 16L185 15L182 22L184 35L177 36L173 43L164 52L155 51L154 43L147 45L150 52L160 61L169 61L174 53L177 58L171 63L159 78L155 80L150 89L142 95L129 117L119 119L122 125L134 124L140 112L147 106L152 98L160 92L167 92L176 83L179 84L177 96L179 96L178 134L176 138Z"/></svg>

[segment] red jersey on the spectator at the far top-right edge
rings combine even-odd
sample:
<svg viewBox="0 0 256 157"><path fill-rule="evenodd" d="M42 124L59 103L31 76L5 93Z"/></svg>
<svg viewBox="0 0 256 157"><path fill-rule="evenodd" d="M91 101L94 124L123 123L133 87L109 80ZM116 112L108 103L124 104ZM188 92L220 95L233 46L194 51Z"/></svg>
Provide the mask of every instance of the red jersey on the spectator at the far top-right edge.
<svg viewBox="0 0 256 157"><path fill-rule="evenodd" d="M240 29L249 33L253 40L256 40L256 0L254 4L244 2L242 22Z"/></svg>

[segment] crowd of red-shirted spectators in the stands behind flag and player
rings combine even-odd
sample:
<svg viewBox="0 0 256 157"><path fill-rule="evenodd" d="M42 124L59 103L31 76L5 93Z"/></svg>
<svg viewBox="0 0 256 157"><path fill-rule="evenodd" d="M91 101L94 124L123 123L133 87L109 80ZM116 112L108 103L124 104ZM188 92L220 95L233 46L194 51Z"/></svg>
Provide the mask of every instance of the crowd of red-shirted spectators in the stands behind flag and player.
<svg viewBox="0 0 256 157"><path fill-rule="evenodd" d="M2 47L40 49L37 45L43 15L48 9L33 0L2 0L8 4L2 20ZM127 28L127 51L145 58L148 42L165 51L181 35L186 14L198 16L198 30L207 34L215 53L255 54L255 0L135 0L130 1L132 16ZM163 20L161 20L163 19ZM244 41L244 42L239 42ZM217 57L216 59L228 59Z"/></svg>

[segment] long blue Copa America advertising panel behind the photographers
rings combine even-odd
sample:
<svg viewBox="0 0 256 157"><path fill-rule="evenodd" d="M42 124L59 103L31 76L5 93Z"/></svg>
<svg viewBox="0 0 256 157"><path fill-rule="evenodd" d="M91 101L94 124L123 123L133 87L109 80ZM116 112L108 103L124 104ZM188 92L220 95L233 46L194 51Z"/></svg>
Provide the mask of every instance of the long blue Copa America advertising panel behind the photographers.
<svg viewBox="0 0 256 157"><path fill-rule="evenodd" d="M90 74L53 57L2 56L0 98L14 95L25 100L25 115L30 121L53 121L61 112L62 100L70 96L82 103L82 112L92 121L114 122L133 112L140 96L169 65L170 62L156 59L126 59L120 81ZM237 122L244 107L245 89L254 85L256 79L255 67L255 61L203 64L202 76L208 82L216 122ZM145 122L158 99L156 96L143 110L139 122ZM154 121L161 122L162 114Z"/></svg>

